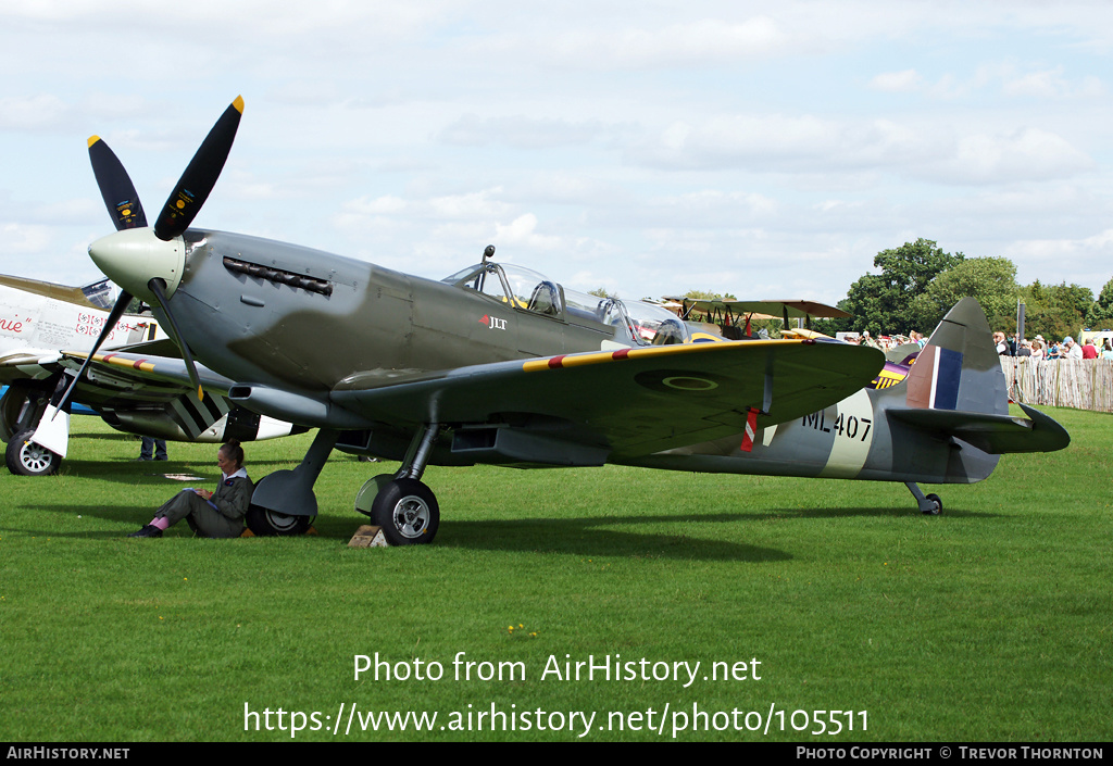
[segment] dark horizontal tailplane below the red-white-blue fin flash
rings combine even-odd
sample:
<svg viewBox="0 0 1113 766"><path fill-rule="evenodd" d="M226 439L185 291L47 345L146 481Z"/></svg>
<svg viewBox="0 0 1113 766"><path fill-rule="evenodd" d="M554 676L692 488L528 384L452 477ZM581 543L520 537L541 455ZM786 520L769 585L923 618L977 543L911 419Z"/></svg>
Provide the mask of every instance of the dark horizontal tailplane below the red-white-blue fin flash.
<svg viewBox="0 0 1113 766"><path fill-rule="evenodd" d="M924 431L961 439L988 454L1054 452L1071 443L1062 425L1034 407L1027 418L961 410L888 410L888 416Z"/></svg>

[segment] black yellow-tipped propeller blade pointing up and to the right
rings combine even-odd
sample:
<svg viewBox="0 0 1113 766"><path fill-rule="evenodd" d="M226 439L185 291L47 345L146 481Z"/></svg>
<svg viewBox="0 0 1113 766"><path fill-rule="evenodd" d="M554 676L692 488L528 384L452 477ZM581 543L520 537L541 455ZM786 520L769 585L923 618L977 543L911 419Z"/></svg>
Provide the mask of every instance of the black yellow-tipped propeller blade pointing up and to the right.
<svg viewBox="0 0 1113 766"><path fill-rule="evenodd" d="M216 179L220 177L225 160L228 159L243 112L244 99L237 96L209 130L209 135L205 137L197 154L189 160L186 171L178 179L178 185L167 197L166 205L155 222L156 237L167 240L181 236L200 212L201 205L216 186Z"/></svg>

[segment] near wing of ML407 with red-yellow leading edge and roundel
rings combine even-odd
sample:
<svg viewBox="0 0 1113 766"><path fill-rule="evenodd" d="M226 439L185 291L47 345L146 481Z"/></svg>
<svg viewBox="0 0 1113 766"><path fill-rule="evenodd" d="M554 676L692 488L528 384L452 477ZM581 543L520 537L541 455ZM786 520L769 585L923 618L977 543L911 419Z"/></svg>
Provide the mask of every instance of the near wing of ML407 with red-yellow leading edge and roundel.
<svg viewBox="0 0 1113 766"><path fill-rule="evenodd" d="M835 341L678 344L499 362L406 382L356 374L329 399L395 428L454 426L464 448L498 436L466 433L486 428L544 440L556 456L561 443L630 456L740 433L749 407L764 411L759 426L801 418L865 386L884 362L876 350Z"/></svg>

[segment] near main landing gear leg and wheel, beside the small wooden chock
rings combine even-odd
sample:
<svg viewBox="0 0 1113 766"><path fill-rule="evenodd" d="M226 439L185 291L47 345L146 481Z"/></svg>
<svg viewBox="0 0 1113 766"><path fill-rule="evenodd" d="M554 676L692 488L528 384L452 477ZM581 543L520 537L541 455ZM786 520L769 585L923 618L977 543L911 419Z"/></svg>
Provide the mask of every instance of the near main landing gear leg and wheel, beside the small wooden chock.
<svg viewBox="0 0 1113 766"><path fill-rule="evenodd" d="M371 479L356 495L355 510L371 517L392 546L433 542L441 526L436 497L420 481L440 432L437 423L427 423L414 435L398 472Z"/></svg>

